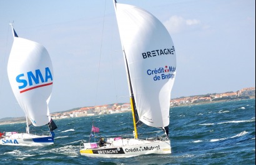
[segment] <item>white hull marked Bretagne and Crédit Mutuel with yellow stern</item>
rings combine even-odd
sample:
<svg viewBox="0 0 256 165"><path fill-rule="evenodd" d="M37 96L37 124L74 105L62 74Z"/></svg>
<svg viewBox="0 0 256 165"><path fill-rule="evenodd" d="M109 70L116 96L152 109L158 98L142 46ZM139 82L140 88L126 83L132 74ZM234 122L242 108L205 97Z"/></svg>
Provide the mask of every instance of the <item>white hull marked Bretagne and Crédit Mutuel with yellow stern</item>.
<svg viewBox="0 0 256 165"><path fill-rule="evenodd" d="M106 146L97 143L83 143L80 150L82 156L96 158L129 158L144 154L170 154L170 140L118 139L107 140ZM94 146L95 148L90 148Z"/></svg>

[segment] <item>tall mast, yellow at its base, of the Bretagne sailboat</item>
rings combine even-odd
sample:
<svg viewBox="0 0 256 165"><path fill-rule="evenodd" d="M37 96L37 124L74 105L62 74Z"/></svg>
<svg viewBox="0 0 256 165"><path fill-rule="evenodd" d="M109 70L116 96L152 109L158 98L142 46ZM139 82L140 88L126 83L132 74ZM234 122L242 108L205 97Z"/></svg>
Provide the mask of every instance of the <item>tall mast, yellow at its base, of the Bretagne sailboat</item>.
<svg viewBox="0 0 256 165"><path fill-rule="evenodd" d="M116 0L113 0L114 2L114 8L115 8L115 12L116 12ZM121 43L122 43L122 39L121 39ZM127 59L126 59L126 52L124 51L124 45L122 44L122 52L124 55L124 60L125 60L125 65L126 65L126 73L127 73L127 80L128 80L128 86L129 86L129 92L130 92L130 106L132 108L132 120L134 123L134 139L138 138L138 133L137 133L137 126L136 126L136 120L135 120L135 101L134 101L134 94L132 92L132 85L130 82L130 74L129 74L129 68L128 68L128 64L127 64Z"/></svg>

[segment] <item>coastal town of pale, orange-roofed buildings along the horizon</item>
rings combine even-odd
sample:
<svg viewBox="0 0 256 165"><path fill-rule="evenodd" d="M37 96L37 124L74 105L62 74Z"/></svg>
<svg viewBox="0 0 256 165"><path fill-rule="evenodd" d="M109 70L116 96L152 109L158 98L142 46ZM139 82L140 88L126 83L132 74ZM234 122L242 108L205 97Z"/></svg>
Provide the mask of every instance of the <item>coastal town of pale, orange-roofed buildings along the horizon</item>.
<svg viewBox="0 0 256 165"><path fill-rule="evenodd" d="M193 103L207 103L209 101L232 100L240 98L255 98L255 87L242 88L237 92L215 93L208 95L198 95L192 97L180 97L170 100L170 106L189 105ZM74 118L79 116L104 115L112 113L122 113L130 110L130 103L114 103L112 105L87 106L77 108L77 110L63 113L53 113L53 119Z"/></svg>

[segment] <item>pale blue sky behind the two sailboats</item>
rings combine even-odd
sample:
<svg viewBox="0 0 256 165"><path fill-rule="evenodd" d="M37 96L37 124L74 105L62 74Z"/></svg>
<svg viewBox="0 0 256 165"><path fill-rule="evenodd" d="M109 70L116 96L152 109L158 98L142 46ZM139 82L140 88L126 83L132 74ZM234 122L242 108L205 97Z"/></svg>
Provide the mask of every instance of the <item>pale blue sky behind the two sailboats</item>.
<svg viewBox="0 0 256 165"><path fill-rule="evenodd" d="M171 98L255 87L254 0L119 0L142 7L169 31L177 55ZM129 103L112 0L0 1L0 118L24 116L7 78L19 37L46 47L54 68L50 113Z"/></svg>

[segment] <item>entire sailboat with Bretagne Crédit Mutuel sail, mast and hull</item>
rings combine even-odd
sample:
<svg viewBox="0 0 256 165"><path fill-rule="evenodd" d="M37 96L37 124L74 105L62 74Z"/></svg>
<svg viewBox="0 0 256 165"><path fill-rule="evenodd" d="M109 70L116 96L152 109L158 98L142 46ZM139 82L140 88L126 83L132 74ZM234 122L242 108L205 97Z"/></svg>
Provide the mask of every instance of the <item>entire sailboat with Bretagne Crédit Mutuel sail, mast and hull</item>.
<svg viewBox="0 0 256 165"><path fill-rule="evenodd" d="M127 158L144 154L170 154L170 92L176 73L174 44L164 25L136 6L114 1L126 64L134 138L100 138L81 143L82 156ZM159 128L164 134L140 139L137 125ZM114 123L113 123L114 124ZM92 136L99 131L92 125Z"/></svg>

